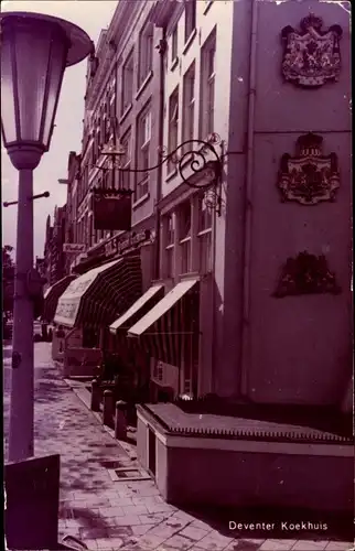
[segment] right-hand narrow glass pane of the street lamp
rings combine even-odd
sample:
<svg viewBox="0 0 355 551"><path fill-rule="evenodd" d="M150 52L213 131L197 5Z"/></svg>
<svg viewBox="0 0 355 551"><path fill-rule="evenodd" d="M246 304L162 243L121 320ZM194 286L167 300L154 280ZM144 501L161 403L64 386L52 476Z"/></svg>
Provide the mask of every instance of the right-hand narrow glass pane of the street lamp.
<svg viewBox="0 0 355 551"><path fill-rule="evenodd" d="M50 147L55 111L61 93L63 75L65 71L66 55L67 55L67 43L58 39L60 37L55 34L55 36L52 40L51 63L47 75L47 88L46 88L47 104L46 104L46 111L43 125L43 136L42 136L42 143L45 147L45 149Z"/></svg>

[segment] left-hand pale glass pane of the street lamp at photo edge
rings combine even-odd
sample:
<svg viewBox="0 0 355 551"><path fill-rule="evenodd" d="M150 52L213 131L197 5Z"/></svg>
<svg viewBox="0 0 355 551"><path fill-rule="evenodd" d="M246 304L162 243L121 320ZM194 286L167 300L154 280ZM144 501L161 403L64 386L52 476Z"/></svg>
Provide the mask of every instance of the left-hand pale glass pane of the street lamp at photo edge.
<svg viewBox="0 0 355 551"><path fill-rule="evenodd" d="M1 122L4 143L17 139L12 57L9 33L1 36Z"/></svg>

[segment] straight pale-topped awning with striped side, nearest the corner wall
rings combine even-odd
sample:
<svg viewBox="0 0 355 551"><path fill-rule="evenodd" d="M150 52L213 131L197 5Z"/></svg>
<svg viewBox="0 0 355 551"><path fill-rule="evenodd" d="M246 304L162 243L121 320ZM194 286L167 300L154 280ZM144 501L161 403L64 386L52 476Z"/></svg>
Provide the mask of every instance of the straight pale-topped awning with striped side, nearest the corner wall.
<svg viewBox="0 0 355 551"><path fill-rule="evenodd" d="M184 345L200 335L198 290L198 279L181 281L128 329L128 336L139 338L153 358L180 366Z"/></svg>

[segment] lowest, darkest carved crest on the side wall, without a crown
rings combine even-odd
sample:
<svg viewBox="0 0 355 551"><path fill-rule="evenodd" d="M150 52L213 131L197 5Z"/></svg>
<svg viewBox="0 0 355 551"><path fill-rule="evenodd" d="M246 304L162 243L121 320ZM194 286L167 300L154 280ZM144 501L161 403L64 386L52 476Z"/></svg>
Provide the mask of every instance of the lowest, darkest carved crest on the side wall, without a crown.
<svg viewBox="0 0 355 551"><path fill-rule="evenodd" d="M295 258L287 259L273 296L282 299L288 295L340 292L341 289L334 273L327 267L325 256L316 257L303 251Z"/></svg>

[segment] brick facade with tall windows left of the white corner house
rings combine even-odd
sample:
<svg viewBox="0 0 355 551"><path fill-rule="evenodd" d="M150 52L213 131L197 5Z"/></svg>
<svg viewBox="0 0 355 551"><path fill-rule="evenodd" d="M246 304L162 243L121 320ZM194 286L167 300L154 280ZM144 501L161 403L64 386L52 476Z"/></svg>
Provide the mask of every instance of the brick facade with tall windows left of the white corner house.
<svg viewBox="0 0 355 551"><path fill-rule="evenodd" d="M118 4L109 29L101 32L96 52L88 62L87 89L80 177L75 184L77 194L76 242L85 244L89 262L105 261L118 253L120 242L136 235L154 235L154 173L144 168L157 164L159 97L154 83L159 67L154 66L154 45L159 31L148 20L148 2ZM120 168L139 169L130 173L112 169L103 153L109 144L120 147ZM74 195L74 187L69 194ZM130 190L132 192L131 230L100 230L94 227L93 191ZM142 239L141 239L142 240ZM136 241L139 239L136 238ZM152 252L142 252L147 267L146 287L152 278ZM151 263L151 266L149 266ZM80 267L79 270L86 269Z"/></svg>

